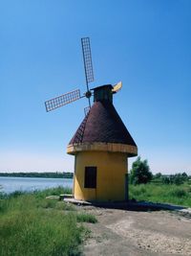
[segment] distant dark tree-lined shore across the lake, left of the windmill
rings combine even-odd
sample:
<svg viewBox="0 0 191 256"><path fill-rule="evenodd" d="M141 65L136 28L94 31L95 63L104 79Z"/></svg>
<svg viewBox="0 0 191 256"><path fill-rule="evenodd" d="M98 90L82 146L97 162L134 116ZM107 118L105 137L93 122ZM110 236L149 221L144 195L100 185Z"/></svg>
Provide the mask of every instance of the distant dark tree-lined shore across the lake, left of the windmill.
<svg viewBox="0 0 191 256"><path fill-rule="evenodd" d="M46 177L46 178L73 178L73 173L0 173L1 176L12 177Z"/></svg>

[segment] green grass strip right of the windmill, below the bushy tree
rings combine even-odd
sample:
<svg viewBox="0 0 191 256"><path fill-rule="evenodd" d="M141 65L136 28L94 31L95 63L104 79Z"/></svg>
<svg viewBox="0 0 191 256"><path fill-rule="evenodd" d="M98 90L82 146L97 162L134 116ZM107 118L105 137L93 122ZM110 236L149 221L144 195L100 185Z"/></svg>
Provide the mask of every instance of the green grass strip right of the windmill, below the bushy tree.
<svg viewBox="0 0 191 256"><path fill-rule="evenodd" d="M186 183L182 185L152 183L130 185L130 198L191 207L191 186Z"/></svg>

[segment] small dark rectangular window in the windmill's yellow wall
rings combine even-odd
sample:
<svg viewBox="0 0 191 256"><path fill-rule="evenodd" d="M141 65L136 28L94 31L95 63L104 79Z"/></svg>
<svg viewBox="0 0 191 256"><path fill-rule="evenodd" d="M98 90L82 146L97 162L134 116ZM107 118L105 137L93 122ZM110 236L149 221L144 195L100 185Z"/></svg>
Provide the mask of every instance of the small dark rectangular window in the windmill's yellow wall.
<svg viewBox="0 0 191 256"><path fill-rule="evenodd" d="M96 189L96 167L85 167L84 188Z"/></svg>

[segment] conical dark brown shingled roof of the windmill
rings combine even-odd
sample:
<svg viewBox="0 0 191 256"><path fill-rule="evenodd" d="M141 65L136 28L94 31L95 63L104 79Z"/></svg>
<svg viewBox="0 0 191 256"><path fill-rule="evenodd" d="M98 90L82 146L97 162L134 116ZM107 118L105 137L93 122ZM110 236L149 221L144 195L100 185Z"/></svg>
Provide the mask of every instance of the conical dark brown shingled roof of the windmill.
<svg viewBox="0 0 191 256"><path fill-rule="evenodd" d="M137 147L135 141L109 101L98 101L76 130L69 145L78 143L115 143Z"/></svg>

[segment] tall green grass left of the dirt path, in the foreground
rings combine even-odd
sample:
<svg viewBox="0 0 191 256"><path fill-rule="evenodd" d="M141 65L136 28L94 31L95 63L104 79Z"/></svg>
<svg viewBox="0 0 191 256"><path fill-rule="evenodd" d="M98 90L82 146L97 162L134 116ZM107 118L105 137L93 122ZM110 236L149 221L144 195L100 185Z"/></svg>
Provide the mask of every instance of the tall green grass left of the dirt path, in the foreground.
<svg viewBox="0 0 191 256"><path fill-rule="evenodd" d="M89 231L78 222L95 217L83 219L73 205L46 199L59 194L66 191L16 192L0 199L0 255L80 255L80 244Z"/></svg>

